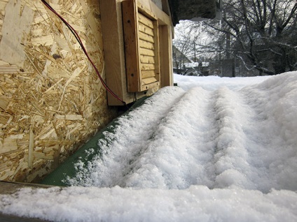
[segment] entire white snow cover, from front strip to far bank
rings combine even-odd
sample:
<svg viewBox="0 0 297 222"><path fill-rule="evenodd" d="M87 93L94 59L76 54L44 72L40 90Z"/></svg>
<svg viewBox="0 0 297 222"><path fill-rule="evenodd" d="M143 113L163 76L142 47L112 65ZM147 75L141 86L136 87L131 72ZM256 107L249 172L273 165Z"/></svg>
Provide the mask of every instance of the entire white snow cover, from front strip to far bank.
<svg viewBox="0 0 297 222"><path fill-rule="evenodd" d="M297 221L297 72L186 77L120 117L69 188L0 195L51 221Z"/></svg>

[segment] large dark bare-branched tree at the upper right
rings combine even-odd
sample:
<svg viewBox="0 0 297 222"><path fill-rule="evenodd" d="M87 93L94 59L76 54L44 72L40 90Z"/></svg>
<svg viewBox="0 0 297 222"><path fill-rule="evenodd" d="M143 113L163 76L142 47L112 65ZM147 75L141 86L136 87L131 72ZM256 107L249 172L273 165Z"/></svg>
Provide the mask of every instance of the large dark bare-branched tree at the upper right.
<svg viewBox="0 0 297 222"><path fill-rule="evenodd" d="M221 24L205 22L215 37L211 47L260 75L296 70L296 10L296 0L225 0Z"/></svg>

